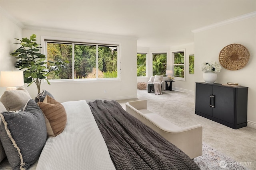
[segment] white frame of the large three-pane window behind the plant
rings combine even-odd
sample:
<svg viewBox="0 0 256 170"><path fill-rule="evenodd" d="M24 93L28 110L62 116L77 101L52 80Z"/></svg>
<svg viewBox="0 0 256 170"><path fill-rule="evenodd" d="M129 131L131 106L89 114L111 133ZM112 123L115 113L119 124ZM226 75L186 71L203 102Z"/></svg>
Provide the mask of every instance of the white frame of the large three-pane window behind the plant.
<svg viewBox="0 0 256 170"><path fill-rule="evenodd" d="M88 39L74 39L74 38L64 38L64 37L52 37L52 36L41 36L41 53L46 55L46 60L47 60L47 45L46 45L46 40L48 41L66 41L69 43L93 43L97 45L117 45L118 46L118 56L117 56L117 78L79 78L76 79L74 78L74 49L72 51L72 79L58 79L58 80L48 80L49 82L112 82L112 81L122 81L122 43L121 42L112 42L112 41L97 41L97 40L88 40ZM98 51L96 51L98 53ZM96 59L96 63L98 62L98 59ZM98 67L98 64L96 65ZM47 64L46 64L47 67ZM46 80L44 80L46 81Z"/></svg>

